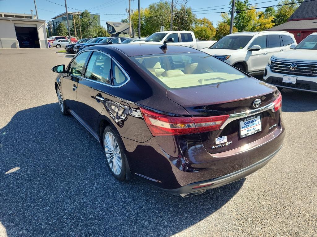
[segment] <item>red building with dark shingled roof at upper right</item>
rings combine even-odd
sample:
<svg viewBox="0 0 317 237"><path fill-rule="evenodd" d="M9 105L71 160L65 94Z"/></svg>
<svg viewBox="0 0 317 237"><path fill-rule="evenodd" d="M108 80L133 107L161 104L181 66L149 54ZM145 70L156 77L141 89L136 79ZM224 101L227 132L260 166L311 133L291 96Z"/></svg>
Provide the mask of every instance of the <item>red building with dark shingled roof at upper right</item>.
<svg viewBox="0 0 317 237"><path fill-rule="evenodd" d="M268 30L283 30L294 34L299 43L311 33L317 32L317 1L305 0L288 21Z"/></svg>

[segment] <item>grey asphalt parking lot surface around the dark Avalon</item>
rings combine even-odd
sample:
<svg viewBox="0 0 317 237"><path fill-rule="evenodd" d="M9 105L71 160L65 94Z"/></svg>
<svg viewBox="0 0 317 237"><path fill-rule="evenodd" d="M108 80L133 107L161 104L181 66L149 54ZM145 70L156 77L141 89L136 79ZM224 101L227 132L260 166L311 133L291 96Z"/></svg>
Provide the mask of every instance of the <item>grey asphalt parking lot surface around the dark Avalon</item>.
<svg viewBox="0 0 317 237"><path fill-rule="evenodd" d="M119 182L59 112L57 49L0 50L0 237L317 236L317 94L283 90L281 151L250 176L181 198Z"/></svg>

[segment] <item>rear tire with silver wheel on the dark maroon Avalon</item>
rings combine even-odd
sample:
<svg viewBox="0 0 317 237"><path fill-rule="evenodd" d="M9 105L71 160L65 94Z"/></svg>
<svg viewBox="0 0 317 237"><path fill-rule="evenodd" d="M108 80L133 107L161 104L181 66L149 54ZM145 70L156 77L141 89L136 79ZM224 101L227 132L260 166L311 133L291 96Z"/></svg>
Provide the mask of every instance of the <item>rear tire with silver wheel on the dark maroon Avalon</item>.
<svg viewBox="0 0 317 237"><path fill-rule="evenodd" d="M125 181L126 155L121 137L117 134L113 127L109 125L103 132L102 141L106 162L112 175L120 181Z"/></svg>

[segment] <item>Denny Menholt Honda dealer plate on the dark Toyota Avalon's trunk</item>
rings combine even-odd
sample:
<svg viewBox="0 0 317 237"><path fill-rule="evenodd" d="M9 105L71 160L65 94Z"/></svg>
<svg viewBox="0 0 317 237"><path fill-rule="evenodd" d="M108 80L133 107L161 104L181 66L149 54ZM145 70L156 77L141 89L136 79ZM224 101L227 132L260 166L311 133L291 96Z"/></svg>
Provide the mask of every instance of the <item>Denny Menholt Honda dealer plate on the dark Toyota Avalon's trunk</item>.
<svg viewBox="0 0 317 237"><path fill-rule="evenodd" d="M240 138L248 137L252 134L262 131L261 115L242 119L239 121Z"/></svg>

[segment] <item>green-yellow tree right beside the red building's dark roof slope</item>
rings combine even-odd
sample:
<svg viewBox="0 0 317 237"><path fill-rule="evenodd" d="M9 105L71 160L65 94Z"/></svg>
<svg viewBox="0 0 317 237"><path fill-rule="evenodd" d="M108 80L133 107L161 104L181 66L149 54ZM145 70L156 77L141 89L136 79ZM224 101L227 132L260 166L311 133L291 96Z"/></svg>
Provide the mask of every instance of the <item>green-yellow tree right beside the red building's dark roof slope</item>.
<svg viewBox="0 0 317 237"><path fill-rule="evenodd" d="M278 3L281 4L288 4L288 3L297 3L302 2L303 0L282 0ZM273 23L275 26L281 25L285 23L288 18L294 13L294 11L300 6L301 3L297 4L290 4L277 7L275 17L273 19Z"/></svg>

